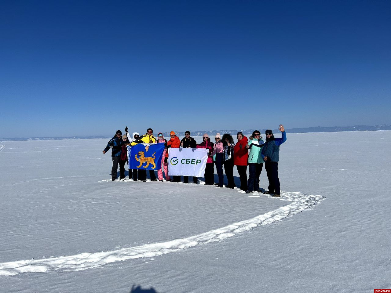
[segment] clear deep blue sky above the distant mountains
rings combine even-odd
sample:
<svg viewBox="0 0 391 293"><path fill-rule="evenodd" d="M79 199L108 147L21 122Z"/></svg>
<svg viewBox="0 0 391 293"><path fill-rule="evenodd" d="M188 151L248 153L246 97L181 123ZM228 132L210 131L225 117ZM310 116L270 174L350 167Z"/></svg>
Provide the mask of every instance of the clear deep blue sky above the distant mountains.
<svg viewBox="0 0 391 293"><path fill-rule="evenodd" d="M0 138L391 124L391 1L3 1Z"/></svg>

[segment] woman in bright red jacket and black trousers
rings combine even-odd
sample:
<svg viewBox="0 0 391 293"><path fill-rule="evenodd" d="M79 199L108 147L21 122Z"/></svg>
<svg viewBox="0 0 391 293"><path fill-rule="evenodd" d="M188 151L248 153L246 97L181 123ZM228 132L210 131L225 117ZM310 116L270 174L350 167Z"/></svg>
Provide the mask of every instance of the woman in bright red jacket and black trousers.
<svg viewBox="0 0 391 293"><path fill-rule="evenodd" d="M233 149L233 164L238 169L240 178L240 189L247 190L247 161L248 149L246 148L248 139L242 132L238 132L236 138L238 139L235 148Z"/></svg>

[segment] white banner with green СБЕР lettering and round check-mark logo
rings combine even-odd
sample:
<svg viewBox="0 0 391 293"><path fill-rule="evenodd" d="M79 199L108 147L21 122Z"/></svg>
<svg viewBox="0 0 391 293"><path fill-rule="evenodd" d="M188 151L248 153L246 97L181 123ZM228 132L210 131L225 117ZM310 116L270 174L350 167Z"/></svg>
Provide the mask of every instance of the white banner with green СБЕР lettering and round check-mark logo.
<svg viewBox="0 0 391 293"><path fill-rule="evenodd" d="M207 160L206 148L169 148L169 175L204 177Z"/></svg>

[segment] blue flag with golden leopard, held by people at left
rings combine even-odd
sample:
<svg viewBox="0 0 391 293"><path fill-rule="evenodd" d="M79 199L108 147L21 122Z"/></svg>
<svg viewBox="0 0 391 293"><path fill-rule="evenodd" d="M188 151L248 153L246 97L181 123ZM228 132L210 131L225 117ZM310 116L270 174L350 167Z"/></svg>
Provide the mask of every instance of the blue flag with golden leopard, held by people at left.
<svg viewBox="0 0 391 293"><path fill-rule="evenodd" d="M138 170L160 170L164 143L138 143L127 146L128 168Z"/></svg>

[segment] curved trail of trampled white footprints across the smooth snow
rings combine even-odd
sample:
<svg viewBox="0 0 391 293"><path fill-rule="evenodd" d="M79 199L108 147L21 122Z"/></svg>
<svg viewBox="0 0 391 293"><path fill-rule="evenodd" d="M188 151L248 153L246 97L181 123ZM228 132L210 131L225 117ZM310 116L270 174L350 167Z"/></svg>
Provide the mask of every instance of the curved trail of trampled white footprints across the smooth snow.
<svg viewBox="0 0 391 293"><path fill-rule="evenodd" d="M103 266L104 264L136 259L140 257L154 257L170 252L185 250L197 245L232 237L240 232L254 229L255 227L274 223L278 220L294 215L316 205L324 197L319 195L306 195L299 192L282 192L281 200L291 203L275 209L274 211L256 216L249 220L243 220L231 225L210 230L208 232L178 238L167 242L151 243L136 247L121 248L106 252L84 252L77 255L51 257L47 259L28 259L24 261L11 261L0 263L0 275L16 275L27 272L47 272L52 270L79 271L88 268Z"/></svg>

